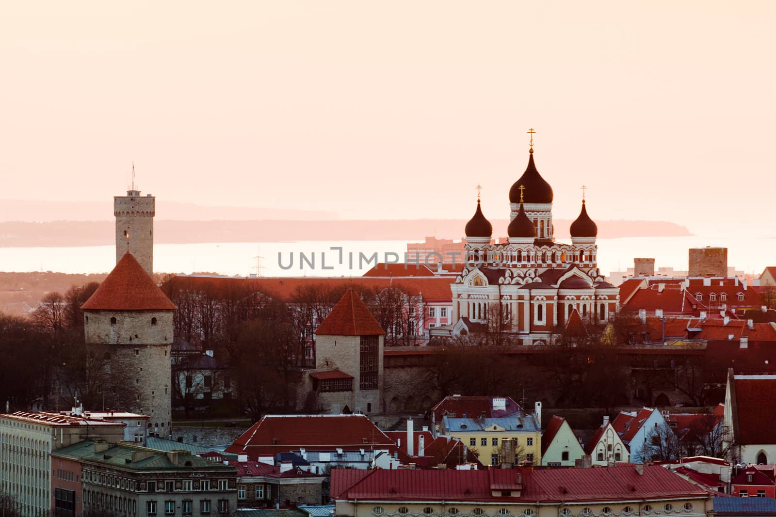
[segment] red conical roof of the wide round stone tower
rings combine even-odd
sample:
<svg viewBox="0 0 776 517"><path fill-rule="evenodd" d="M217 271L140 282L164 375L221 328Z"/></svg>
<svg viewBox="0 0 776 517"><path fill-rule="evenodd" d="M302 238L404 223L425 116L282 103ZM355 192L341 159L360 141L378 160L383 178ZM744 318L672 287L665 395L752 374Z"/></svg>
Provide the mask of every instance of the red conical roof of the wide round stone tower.
<svg viewBox="0 0 776 517"><path fill-rule="evenodd" d="M171 311L176 307L127 251L81 308L95 311Z"/></svg>

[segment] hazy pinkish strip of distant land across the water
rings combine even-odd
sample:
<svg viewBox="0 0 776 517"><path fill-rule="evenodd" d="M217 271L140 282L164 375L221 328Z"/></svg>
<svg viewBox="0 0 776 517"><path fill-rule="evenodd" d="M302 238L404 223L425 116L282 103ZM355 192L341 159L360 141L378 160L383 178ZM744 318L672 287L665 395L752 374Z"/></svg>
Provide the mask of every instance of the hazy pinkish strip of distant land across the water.
<svg viewBox="0 0 776 517"><path fill-rule="evenodd" d="M494 219L494 237L506 236L508 221ZM556 219L556 238L568 238L571 221ZM597 221L598 236L684 237L692 233L684 226L667 221ZM114 243L113 221L0 222L0 246L102 246ZM318 220L157 220L154 243L254 243L308 240L406 240L422 241L426 236L460 240L463 219L367 219ZM503 230L503 231L502 231ZM503 234L503 235L502 235Z"/></svg>

